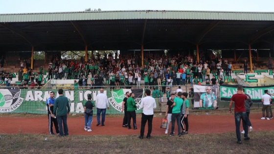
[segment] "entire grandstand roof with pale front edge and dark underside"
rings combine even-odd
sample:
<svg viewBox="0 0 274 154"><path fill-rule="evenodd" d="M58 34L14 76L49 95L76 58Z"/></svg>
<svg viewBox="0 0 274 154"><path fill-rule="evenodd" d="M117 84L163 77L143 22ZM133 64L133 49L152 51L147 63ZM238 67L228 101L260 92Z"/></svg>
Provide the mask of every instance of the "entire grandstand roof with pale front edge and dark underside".
<svg viewBox="0 0 274 154"><path fill-rule="evenodd" d="M0 52L274 48L274 13L99 11L0 14Z"/></svg>

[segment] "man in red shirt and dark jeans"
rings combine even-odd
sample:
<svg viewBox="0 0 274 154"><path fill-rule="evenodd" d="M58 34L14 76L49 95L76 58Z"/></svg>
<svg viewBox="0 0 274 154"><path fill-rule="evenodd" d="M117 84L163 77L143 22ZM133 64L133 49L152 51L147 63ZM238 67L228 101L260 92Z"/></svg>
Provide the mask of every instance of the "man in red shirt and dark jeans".
<svg viewBox="0 0 274 154"><path fill-rule="evenodd" d="M234 117L235 117L235 125L236 125L236 136L237 136L237 143L242 144L241 140L241 132L240 132L240 125L241 119L243 120L243 128L245 130L244 140L250 140L248 137L248 115L245 108L245 100L249 99L245 92L243 91L243 86L239 85L237 87L237 93L231 97L231 101L229 103L229 113L232 114L231 107L233 102L235 103L234 108Z"/></svg>

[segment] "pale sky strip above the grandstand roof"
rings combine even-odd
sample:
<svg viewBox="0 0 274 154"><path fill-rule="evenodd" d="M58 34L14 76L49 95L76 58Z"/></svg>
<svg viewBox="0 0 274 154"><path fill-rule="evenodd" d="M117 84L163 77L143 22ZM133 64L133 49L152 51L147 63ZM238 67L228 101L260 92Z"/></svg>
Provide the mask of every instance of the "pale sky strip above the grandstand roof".
<svg viewBox="0 0 274 154"><path fill-rule="evenodd" d="M274 12L274 0L1 0L0 14L114 10Z"/></svg>

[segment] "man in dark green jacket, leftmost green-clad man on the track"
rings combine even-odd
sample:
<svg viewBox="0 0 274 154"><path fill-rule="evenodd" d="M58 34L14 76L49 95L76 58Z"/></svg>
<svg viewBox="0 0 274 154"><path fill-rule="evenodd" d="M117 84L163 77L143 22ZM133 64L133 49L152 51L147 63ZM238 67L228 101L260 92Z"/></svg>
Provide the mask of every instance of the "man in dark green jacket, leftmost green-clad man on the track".
<svg viewBox="0 0 274 154"><path fill-rule="evenodd" d="M70 112L70 106L68 103L68 97L65 97L63 95L63 89L59 89L58 93L59 93L59 97L56 98L56 100L55 100L53 114L57 115L60 136L64 136L64 135L68 135L67 118L68 118L68 115ZM56 112L57 112L57 114L56 114ZM64 124L64 132L63 132L62 124Z"/></svg>

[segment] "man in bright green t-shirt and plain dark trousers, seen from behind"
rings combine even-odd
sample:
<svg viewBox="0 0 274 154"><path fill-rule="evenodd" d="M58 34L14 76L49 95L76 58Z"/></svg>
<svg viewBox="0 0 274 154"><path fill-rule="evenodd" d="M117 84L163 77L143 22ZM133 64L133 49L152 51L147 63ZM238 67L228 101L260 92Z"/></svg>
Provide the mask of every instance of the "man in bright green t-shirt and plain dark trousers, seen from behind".
<svg viewBox="0 0 274 154"><path fill-rule="evenodd" d="M175 121L177 121L178 126L178 136L181 137L181 107L183 106L183 99L181 98L182 92L177 93L177 97L174 98L172 108L172 115L171 115L171 132L169 136L174 136L174 129L175 129Z"/></svg>

